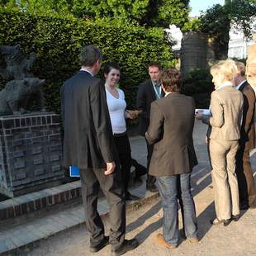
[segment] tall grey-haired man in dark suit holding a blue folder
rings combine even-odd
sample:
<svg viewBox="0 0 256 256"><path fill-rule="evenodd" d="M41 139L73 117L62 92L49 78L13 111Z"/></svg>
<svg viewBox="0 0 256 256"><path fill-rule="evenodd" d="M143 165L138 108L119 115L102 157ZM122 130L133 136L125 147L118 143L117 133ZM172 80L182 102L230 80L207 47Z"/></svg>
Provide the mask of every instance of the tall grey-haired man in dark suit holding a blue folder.
<svg viewBox="0 0 256 256"><path fill-rule="evenodd" d="M81 53L82 68L61 88L64 125L64 167L78 166L81 177L90 250L97 252L108 243L115 255L134 249L138 242L126 240L126 206L121 173L116 168L111 121L107 110L104 84L93 76L102 64L102 53L94 45ZM104 235L104 225L97 212L99 188L110 205L111 230Z"/></svg>

